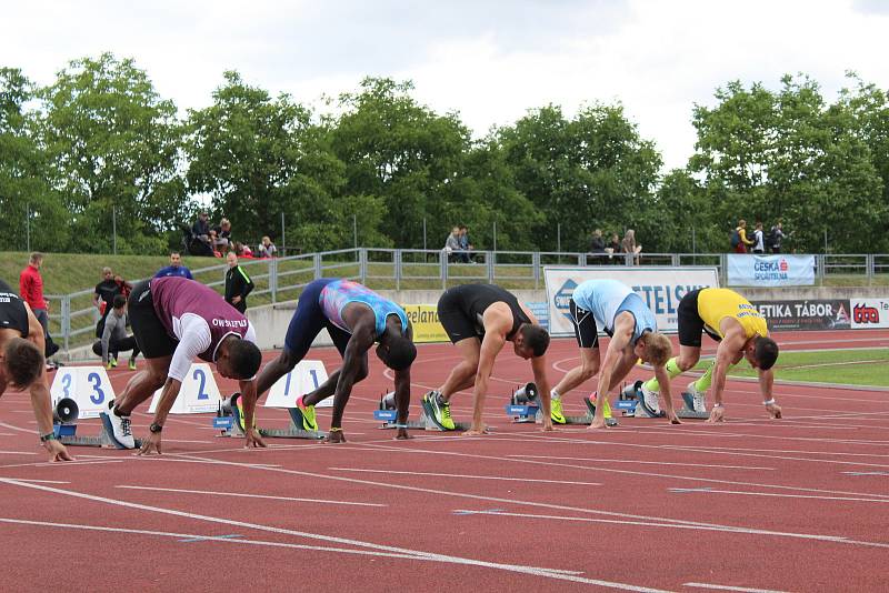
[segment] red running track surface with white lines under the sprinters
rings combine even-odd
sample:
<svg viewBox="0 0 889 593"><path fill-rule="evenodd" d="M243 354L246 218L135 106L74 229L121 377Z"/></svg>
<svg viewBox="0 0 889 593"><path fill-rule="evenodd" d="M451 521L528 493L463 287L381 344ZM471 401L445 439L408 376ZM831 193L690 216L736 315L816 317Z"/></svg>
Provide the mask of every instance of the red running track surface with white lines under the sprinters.
<svg viewBox="0 0 889 593"><path fill-rule="evenodd" d="M889 345L886 331L778 339L785 349ZM311 356L339 363L330 349ZM553 342L557 369L576 356L572 340ZM246 451L214 438L206 415L171 416L160 458L78 448L77 463L49 464L27 398L8 393L3 589L887 590L886 391L779 385L786 419L771 421L756 384L730 381L725 425L623 419L541 433L503 415L530 369L501 359L487 410L496 432L482 438L392 441L371 418L391 384L374 361L347 409L344 445L270 440ZM450 346L421 346L414 415L455 363ZM130 375L112 372L114 388ZM569 413L581 413L580 395L568 395ZM458 419L470 399L455 398ZM320 414L326 426L329 410ZM259 419L286 424L271 409ZM149 416L134 420L144 433Z"/></svg>

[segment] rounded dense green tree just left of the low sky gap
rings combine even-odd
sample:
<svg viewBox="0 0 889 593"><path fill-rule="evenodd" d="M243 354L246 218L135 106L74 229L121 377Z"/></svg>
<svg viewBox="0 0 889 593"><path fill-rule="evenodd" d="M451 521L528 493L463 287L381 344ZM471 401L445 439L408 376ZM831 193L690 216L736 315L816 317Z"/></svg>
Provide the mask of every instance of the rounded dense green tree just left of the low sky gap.
<svg viewBox="0 0 889 593"><path fill-rule="evenodd" d="M622 107L593 104L568 120L561 108L548 105L498 137L516 188L543 215L533 229L540 249L556 249L559 227L562 250L570 251L586 251L597 228L635 228L640 238L657 229L661 158Z"/></svg>

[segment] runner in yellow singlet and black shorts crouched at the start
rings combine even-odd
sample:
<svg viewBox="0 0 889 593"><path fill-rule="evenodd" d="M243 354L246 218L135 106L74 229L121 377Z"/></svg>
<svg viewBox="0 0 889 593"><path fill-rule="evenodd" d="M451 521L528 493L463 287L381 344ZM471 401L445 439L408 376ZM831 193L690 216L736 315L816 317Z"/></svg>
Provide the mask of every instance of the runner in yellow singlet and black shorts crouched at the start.
<svg viewBox="0 0 889 593"><path fill-rule="evenodd" d="M742 358L759 373L759 390L762 403L772 418L781 418L781 409L775 403L771 368L778 360L778 344L769 338L766 319L750 301L729 289L700 289L686 294L677 310L679 321L679 356L667 362L670 379L691 369L701 356L701 333L719 342L716 359L703 376L689 384L688 391L695 400L695 410L706 411L705 394L713 385L713 408L708 422L721 422L725 414L722 391L726 373ZM642 384L647 405L657 405L660 385L656 379Z"/></svg>

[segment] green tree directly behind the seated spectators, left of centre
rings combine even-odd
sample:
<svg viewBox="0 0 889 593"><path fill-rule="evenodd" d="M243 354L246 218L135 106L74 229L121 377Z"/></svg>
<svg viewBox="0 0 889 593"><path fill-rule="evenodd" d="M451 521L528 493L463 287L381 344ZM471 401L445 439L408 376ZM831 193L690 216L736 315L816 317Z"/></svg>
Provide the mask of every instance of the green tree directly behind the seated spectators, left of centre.
<svg viewBox="0 0 889 593"><path fill-rule="evenodd" d="M344 165L307 108L288 94L271 98L237 72L224 79L212 105L189 113L188 182L232 220L236 239L280 234L283 214L289 247L317 251L351 244L352 209L362 229L376 224L372 197L340 199Z"/></svg>

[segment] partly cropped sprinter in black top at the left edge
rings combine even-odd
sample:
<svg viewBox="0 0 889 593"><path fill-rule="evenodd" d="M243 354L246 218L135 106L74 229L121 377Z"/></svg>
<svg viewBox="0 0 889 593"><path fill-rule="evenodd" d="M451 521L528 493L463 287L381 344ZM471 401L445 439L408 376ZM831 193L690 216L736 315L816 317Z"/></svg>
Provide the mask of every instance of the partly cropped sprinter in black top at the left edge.
<svg viewBox="0 0 889 593"><path fill-rule="evenodd" d="M40 442L50 461L73 461L52 428L43 346L43 326L30 305L0 280L0 395L7 386L27 389Z"/></svg>

